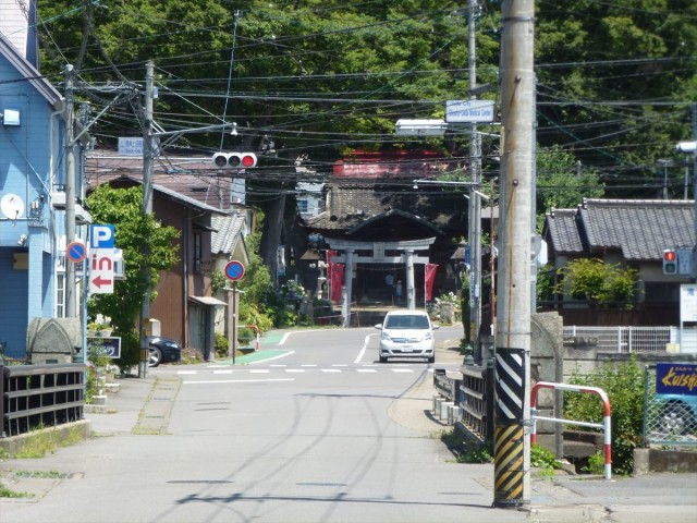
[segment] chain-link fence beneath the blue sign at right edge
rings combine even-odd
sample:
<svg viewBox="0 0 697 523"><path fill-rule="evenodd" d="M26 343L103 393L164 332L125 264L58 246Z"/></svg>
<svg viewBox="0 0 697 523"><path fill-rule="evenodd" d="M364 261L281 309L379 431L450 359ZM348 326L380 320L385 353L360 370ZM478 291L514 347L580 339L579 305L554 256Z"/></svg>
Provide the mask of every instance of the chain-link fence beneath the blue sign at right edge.
<svg viewBox="0 0 697 523"><path fill-rule="evenodd" d="M644 442L697 446L697 396L657 394L656 367L644 367Z"/></svg>

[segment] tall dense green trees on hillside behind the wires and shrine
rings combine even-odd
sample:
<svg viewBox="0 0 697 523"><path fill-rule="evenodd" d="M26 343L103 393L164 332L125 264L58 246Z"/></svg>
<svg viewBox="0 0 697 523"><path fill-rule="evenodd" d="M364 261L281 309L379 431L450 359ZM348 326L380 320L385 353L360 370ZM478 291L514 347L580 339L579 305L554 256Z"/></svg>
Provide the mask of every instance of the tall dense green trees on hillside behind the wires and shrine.
<svg viewBox="0 0 697 523"><path fill-rule="evenodd" d="M499 4L479 3L477 83L492 84L485 96L500 105ZM566 205L570 181L576 199L570 205L597 195L590 177L603 181L609 196L657 196L657 159L675 157L675 142L690 136L697 3L537 0L536 9L540 150L557 147L568 156L560 158L564 166L580 160L587 178L545 180L539 169L540 214ZM400 118L442 118L447 100L469 97L468 14L462 2L53 0L39 2L39 12L42 73L60 84L64 64L77 64L78 90L95 109L126 81L142 86L151 59L159 125L237 123L239 136L184 133L172 147L258 150L247 203L266 211L262 252L270 266L298 159L318 179L328 179L332 162L352 148L428 147L455 156L463 169L468 163L466 126L453 127L445 141L393 134ZM139 134L139 110L138 98L131 98L108 110L90 132L103 144ZM485 139L489 165L497 146ZM683 170L669 175L682 177ZM586 192L590 185L592 194Z"/></svg>

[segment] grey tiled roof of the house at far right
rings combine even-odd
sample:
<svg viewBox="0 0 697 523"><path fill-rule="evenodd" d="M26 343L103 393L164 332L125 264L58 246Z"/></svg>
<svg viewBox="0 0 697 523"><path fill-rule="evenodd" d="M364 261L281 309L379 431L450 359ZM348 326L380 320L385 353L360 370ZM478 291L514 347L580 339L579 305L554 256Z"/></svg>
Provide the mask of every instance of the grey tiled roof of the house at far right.
<svg viewBox="0 0 697 523"><path fill-rule="evenodd" d="M558 254L620 251L626 260L657 260L664 248L695 245L695 202L587 199L548 215L547 230Z"/></svg>

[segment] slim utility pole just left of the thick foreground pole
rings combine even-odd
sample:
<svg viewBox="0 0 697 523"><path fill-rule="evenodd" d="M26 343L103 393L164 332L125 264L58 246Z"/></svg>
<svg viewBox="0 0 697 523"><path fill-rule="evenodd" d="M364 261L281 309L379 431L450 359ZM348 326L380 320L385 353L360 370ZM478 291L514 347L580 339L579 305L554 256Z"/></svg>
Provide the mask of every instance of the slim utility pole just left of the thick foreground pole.
<svg viewBox="0 0 697 523"><path fill-rule="evenodd" d="M477 87L477 59L476 59L476 11L477 0L469 0L469 21L467 27L467 68L469 70L469 92ZM472 96L472 99L476 99ZM481 172L481 136L477 133L477 124L472 124L472 142L469 143L469 323L475 346L475 353L479 346L479 331L481 330L481 199L479 198L480 172Z"/></svg>

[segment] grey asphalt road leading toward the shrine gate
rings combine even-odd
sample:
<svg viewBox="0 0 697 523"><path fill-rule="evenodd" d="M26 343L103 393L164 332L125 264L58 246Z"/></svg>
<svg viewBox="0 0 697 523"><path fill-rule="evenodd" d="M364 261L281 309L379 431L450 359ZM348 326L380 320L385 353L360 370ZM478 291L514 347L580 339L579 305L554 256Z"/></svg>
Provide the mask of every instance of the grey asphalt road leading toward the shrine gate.
<svg viewBox="0 0 697 523"><path fill-rule="evenodd" d="M152 369L135 425L40 460L66 479L3 501L0 522L525 521L493 518L490 465L390 416L432 365L376 363L378 332L279 335L250 365Z"/></svg>

